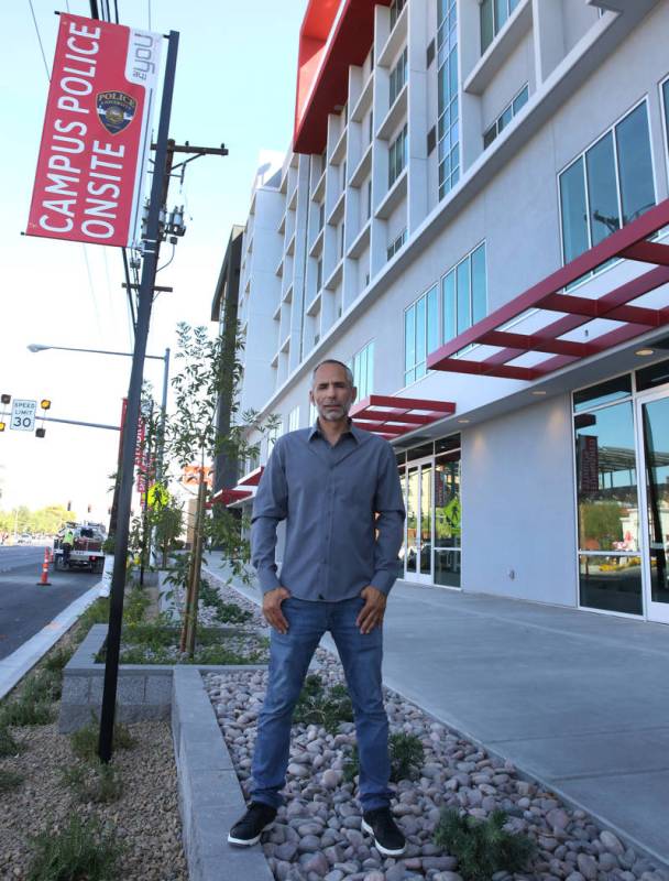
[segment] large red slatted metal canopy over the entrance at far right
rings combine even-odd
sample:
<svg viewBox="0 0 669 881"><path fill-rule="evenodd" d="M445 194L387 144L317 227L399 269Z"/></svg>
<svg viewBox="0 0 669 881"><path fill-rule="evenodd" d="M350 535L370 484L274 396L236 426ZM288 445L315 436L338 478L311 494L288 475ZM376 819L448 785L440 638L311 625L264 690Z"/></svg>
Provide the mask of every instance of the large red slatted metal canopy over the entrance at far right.
<svg viewBox="0 0 669 881"><path fill-rule="evenodd" d="M658 289L669 283L669 246L646 241L668 224L666 199L441 346L428 356L428 369L535 380L668 324L669 292ZM564 293L616 259L655 268L596 298ZM485 348L456 357L469 346Z"/></svg>

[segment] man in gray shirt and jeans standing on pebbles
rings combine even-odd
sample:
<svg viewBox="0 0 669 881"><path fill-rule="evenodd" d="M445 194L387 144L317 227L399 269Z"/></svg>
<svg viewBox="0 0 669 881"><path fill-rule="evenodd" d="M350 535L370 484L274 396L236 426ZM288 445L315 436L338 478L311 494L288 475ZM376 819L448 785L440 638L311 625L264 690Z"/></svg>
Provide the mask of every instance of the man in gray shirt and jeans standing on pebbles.
<svg viewBox="0 0 669 881"><path fill-rule="evenodd" d="M341 361L314 370L311 428L279 437L253 504L252 562L272 627L267 693L259 716L251 804L228 841L254 845L283 803L293 710L321 635L330 631L355 715L362 828L384 856L406 844L390 809L382 624L397 577L404 503L391 445L355 428L353 376ZM281 579L276 527L286 521Z"/></svg>

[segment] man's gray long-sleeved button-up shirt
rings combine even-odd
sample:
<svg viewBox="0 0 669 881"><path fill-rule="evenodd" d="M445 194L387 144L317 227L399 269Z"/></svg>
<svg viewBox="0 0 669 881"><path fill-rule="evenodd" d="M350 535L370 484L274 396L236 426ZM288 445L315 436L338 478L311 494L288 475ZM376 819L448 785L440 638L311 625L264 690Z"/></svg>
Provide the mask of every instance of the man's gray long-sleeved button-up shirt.
<svg viewBox="0 0 669 881"><path fill-rule="evenodd" d="M331 446L318 423L277 439L253 501L252 562L263 594L281 586L298 599L338 601L369 585L387 594L403 534L402 487L386 440L351 426Z"/></svg>

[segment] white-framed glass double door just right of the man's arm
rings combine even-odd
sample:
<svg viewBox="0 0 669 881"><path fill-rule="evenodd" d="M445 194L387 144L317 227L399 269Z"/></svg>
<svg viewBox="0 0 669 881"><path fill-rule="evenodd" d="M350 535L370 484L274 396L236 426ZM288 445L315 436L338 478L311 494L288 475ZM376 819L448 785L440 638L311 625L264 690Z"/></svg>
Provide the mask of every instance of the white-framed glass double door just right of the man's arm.
<svg viewBox="0 0 669 881"><path fill-rule="evenodd" d="M412 463L406 474L405 577L432 580L432 459Z"/></svg>

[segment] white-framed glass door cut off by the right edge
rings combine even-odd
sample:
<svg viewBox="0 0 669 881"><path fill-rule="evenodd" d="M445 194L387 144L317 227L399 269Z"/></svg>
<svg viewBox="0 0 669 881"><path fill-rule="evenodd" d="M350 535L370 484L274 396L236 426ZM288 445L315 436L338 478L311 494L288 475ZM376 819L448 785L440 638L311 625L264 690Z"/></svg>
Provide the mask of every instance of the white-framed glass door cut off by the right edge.
<svg viewBox="0 0 669 881"><path fill-rule="evenodd" d="M637 398L646 617L669 623L669 394Z"/></svg>

